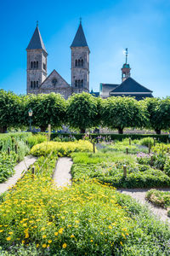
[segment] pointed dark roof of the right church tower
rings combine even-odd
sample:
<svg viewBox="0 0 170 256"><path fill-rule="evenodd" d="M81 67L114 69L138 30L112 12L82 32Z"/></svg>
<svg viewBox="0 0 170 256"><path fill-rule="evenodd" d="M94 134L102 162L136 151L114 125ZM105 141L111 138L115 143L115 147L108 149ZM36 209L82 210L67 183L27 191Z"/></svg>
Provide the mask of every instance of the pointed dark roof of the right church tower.
<svg viewBox="0 0 170 256"><path fill-rule="evenodd" d="M77 29L76 36L71 44L71 47L85 47L88 46L83 29L82 29L82 22Z"/></svg>

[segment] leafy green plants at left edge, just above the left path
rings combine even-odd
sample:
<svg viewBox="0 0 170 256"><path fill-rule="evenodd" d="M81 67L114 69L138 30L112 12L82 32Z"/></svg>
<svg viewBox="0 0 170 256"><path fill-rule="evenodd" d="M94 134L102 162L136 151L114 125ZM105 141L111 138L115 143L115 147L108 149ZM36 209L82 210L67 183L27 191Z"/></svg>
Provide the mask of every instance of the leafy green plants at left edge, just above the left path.
<svg viewBox="0 0 170 256"><path fill-rule="evenodd" d="M9 155L5 152L0 154L0 183L13 176L16 160L17 155L14 152L11 152Z"/></svg>

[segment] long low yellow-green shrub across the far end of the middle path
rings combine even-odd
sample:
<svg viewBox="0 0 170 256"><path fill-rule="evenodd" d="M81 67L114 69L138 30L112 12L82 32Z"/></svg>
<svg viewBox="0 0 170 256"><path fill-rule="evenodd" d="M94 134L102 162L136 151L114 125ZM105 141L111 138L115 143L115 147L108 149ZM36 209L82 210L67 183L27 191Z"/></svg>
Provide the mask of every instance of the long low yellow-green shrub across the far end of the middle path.
<svg viewBox="0 0 170 256"><path fill-rule="evenodd" d="M92 152L93 144L88 141L77 141L68 143L41 143L31 148L31 154L40 156L51 152L59 156L70 156L72 152Z"/></svg>

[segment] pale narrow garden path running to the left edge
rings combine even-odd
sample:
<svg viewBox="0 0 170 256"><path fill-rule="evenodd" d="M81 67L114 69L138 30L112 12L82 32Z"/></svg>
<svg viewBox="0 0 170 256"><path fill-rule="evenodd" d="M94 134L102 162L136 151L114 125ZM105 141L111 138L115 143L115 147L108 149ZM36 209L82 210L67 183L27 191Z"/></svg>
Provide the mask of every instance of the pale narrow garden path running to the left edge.
<svg viewBox="0 0 170 256"><path fill-rule="evenodd" d="M9 187L14 186L15 183L23 176L23 172L26 172L29 166L34 164L37 158L33 156L26 156L17 166L14 167L14 176L9 177L5 183L0 183L0 195L8 190Z"/></svg>

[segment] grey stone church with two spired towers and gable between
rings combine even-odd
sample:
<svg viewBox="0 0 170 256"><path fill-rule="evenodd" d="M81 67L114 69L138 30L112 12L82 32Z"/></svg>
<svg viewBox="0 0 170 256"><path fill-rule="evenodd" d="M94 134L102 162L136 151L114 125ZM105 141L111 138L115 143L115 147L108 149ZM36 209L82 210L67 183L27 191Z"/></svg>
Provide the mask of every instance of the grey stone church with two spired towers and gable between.
<svg viewBox="0 0 170 256"><path fill-rule="evenodd" d="M43 44L38 26L31 38L27 51L27 94L60 93L67 99L72 93L89 92L88 44L82 22L71 44L71 84L68 84L54 69L48 75L48 52Z"/></svg>

